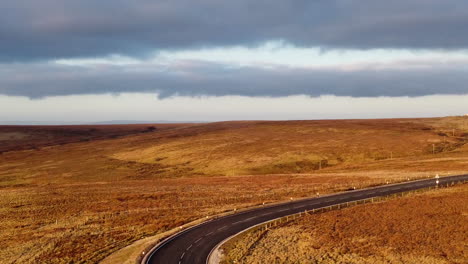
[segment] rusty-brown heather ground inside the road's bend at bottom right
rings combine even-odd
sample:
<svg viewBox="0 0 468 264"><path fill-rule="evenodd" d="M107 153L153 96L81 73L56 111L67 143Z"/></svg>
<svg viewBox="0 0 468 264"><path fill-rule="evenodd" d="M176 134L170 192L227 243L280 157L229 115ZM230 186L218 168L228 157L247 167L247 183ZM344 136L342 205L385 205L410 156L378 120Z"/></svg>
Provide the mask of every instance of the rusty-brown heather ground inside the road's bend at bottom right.
<svg viewBox="0 0 468 264"><path fill-rule="evenodd" d="M466 263L468 185L308 215L225 245L224 263Z"/></svg>

